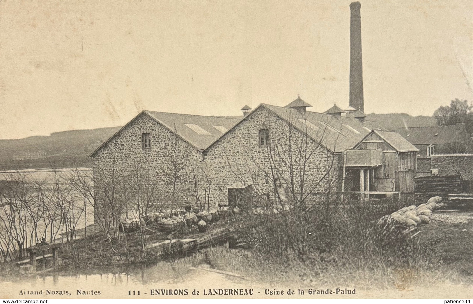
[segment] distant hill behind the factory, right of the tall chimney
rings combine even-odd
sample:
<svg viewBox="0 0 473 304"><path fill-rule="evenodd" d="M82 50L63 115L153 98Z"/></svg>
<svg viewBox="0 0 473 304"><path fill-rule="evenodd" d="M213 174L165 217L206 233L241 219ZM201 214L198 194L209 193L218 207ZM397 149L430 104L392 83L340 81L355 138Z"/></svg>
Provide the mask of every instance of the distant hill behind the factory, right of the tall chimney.
<svg viewBox="0 0 473 304"><path fill-rule="evenodd" d="M429 127L436 126L437 119L432 116L411 116L406 113L368 114L367 120L376 122L386 130L395 130L402 127Z"/></svg>

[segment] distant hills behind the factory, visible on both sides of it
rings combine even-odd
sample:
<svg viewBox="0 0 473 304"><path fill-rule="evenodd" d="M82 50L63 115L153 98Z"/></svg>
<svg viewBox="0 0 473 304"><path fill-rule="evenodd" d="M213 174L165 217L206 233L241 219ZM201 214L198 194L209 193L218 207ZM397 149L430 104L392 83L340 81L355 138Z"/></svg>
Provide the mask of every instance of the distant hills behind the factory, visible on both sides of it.
<svg viewBox="0 0 473 304"><path fill-rule="evenodd" d="M375 121L380 127L388 130L405 125L424 127L436 124L433 117L412 117L405 113L368 115L368 120ZM49 136L0 140L0 169L91 167L88 155L119 129L120 127L107 127L71 130Z"/></svg>

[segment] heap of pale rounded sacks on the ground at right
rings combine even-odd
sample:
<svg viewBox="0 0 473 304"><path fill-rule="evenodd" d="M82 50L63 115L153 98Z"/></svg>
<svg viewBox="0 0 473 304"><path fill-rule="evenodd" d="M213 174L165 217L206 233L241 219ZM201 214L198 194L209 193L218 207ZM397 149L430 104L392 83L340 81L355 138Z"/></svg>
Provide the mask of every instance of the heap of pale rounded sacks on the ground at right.
<svg viewBox="0 0 473 304"><path fill-rule="evenodd" d="M432 215L432 211L444 205L445 204L442 203L442 198L440 196L434 196L429 198L427 203L420 204L417 207L415 205L404 207L391 213L390 217L407 227L417 226L419 224L429 224L429 218Z"/></svg>

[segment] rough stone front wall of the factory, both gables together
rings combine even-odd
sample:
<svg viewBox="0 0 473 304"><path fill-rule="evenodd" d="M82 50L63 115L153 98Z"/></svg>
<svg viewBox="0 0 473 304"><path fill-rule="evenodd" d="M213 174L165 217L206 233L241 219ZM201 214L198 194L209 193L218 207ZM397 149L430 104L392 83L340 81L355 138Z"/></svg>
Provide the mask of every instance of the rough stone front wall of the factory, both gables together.
<svg viewBox="0 0 473 304"><path fill-rule="evenodd" d="M271 150L259 145L261 128L270 130ZM151 135L150 149L141 146L143 133ZM302 132L290 129L286 121L263 107L213 144L204 152L203 159L195 147L143 113L96 152L95 187L101 185L99 171L116 169L124 176L134 178L138 169L151 174L159 188L157 193L163 199L169 198L173 192L173 172L178 171L175 193L181 205L195 206L199 201L210 204L212 208L228 204L228 187L236 183L252 184L257 194L272 194L274 177L280 177L278 183L281 186L284 183L282 177L288 176L282 159L287 157L289 135L293 148L300 147L307 139L308 152L313 153L303 166L305 185L311 187L310 192L326 192L329 184L331 191L339 190L339 158ZM298 154L300 156L300 153L293 152L296 159ZM281 155L285 156L281 158ZM178 170L175 169L176 163ZM280 173L272 174L271 164Z"/></svg>

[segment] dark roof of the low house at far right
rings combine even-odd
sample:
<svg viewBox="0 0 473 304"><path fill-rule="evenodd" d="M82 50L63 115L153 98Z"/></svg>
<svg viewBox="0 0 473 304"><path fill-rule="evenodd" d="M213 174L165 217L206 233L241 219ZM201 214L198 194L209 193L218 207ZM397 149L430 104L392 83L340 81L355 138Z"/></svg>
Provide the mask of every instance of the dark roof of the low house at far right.
<svg viewBox="0 0 473 304"><path fill-rule="evenodd" d="M398 128L397 132L412 144L470 143L470 135L460 126Z"/></svg>

